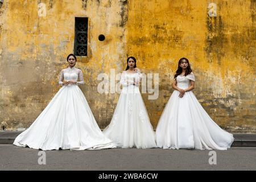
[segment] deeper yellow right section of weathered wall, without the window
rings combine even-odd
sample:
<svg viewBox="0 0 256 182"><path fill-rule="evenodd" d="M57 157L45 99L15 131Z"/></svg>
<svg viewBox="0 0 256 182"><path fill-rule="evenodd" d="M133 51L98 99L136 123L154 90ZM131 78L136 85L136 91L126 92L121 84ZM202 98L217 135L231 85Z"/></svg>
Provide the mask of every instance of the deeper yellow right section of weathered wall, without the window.
<svg viewBox="0 0 256 182"><path fill-rule="evenodd" d="M208 16L208 4L217 16ZM144 102L157 125L173 89L177 61L187 57L193 91L225 129L255 131L255 1L130 1L127 52L144 72L158 72L158 100Z"/></svg>

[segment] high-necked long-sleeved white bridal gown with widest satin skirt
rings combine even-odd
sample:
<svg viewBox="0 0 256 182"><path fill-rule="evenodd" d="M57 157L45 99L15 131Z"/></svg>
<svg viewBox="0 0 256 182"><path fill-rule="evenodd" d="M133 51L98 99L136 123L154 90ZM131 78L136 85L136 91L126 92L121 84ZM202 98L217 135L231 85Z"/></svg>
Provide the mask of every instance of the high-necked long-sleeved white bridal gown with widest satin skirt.
<svg viewBox="0 0 256 182"><path fill-rule="evenodd" d="M64 80L77 84L63 85ZM115 148L105 137L79 86L84 84L80 69L61 70L59 84L63 85L30 127L16 137L13 144L41 150L100 150Z"/></svg>

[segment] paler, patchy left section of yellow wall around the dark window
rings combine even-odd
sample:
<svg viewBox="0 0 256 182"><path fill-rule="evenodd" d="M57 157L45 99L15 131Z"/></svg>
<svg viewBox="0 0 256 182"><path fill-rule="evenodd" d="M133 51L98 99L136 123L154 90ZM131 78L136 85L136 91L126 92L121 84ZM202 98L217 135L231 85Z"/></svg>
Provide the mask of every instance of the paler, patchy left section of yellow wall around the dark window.
<svg viewBox="0 0 256 182"><path fill-rule="evenodd" d="M38 16L38 3L46 16ZM81 86L99 125L109 122L118 94L97 93L97 75L125 66L126 2L4 1L1 8L1 121L9 128L28 127L60 86L61 69L73 52L75 16L88 17L88 56L79 57L85 86ZM104 42L98 35L104 34Z"/></svg>

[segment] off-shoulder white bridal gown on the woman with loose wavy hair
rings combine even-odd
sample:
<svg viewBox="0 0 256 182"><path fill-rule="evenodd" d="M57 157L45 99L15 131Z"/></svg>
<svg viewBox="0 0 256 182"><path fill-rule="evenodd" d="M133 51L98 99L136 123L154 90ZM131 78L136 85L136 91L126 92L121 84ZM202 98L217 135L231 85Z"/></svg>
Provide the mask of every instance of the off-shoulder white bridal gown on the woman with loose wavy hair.
<svg viewBox="0 0 256 182"><path fill-rule="evenodd" d="M177 76L177 87L186 89L195 76ZM195 148L198 150L227 150L233 135L222 130L197 101L192 91L174 90L156 127L156 143L161 148Z"/></svg>

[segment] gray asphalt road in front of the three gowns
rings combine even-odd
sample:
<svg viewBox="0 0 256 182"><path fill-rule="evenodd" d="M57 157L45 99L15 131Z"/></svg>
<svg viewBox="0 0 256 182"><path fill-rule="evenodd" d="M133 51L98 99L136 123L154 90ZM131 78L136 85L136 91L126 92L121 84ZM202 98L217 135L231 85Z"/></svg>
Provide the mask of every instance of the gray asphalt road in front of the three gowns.
<svg viewBox="0 0 256 182"><path fill-rule="evenodd" d="M38 164L40 150L0 145L0 170L255 170L256 147L216 151L217 164L209 164L208 150L117 148L98 151L46 151L46 164ZM43 160L40 160L41 162Z"/></svg>

